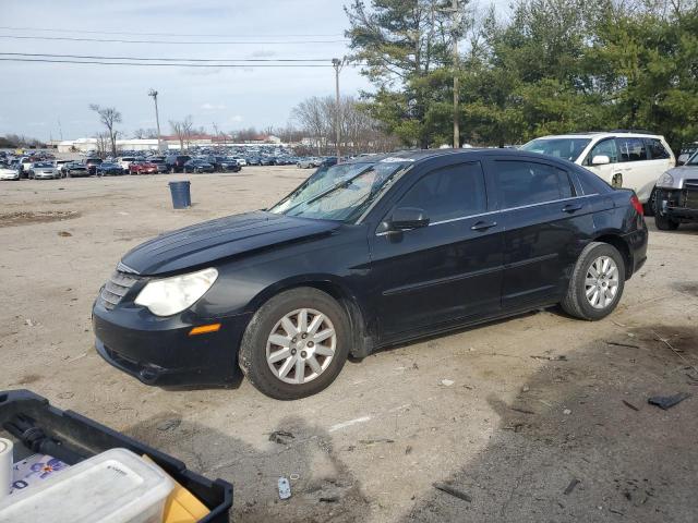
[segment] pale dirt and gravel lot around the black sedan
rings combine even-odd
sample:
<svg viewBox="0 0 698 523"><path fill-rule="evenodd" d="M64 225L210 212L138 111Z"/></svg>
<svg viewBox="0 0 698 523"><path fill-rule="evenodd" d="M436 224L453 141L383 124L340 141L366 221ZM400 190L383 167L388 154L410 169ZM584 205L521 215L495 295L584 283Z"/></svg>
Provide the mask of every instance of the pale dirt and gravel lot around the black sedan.
<svg viewBox="0 0 698 523"><path fill-rule="evenodd" d="M189 210L169 202L181 175L0 184L0 389L29 388L231 481L236 521L696 521L698 227L663 233L649 218L649 260L603 321L553 309L399 346L302 401L248 382L148 388L97 356L91 305L125 251L264 207L308 173L190 175ZM676 392L696 396L647 403ZM275 430L293 438L269 441Z"/></svg>

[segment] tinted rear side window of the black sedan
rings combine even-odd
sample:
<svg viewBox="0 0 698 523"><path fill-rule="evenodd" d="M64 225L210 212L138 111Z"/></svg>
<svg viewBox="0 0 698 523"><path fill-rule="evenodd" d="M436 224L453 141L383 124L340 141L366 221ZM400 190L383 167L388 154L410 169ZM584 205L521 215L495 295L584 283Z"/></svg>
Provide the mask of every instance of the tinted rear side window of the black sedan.
<svg viewBox="0 0 698 523"><path fill-rule="evenodd" d="M567 172L531 161L502 160L495 163L502 208L543 204L575 195Z"/></svg>

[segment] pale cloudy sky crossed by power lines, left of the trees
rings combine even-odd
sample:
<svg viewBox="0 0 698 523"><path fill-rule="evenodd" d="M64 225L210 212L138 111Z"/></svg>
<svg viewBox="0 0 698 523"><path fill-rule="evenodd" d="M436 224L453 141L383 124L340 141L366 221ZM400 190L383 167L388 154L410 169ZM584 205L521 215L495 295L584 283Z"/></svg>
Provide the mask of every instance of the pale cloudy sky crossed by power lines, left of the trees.
<svg viewBox="0 0 698 523"><path fill-rule="evenodd" d="M348 27L345 3L348 0L0 0L0 59L12 58L2 53L19 52L156 59L326 59L322 63L329 65L332 58L349 53L344 37ZM46 39L27 38L36 36ZM163 134L170 132L170 120L186 115L196 127L208 132L214 132L214 125L220 132L282 126L291 109L303 99L335 92L330 66L0 61L0 135L16 133L39 139L74 139L101 131L91 104L121 111L119 129L125 136L136 129L155 127L153 99L147 96L151 88L158 92ZM342 94L356 95L370 87L357 68L342 69Z"/></svg>

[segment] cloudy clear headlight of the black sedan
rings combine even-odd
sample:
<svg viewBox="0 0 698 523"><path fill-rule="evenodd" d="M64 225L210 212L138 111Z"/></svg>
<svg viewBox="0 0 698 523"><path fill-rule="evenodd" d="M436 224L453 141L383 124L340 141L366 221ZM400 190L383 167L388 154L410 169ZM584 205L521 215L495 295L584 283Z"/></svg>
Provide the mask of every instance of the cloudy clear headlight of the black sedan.
<svg viewBox="0 0 698 523"><path fill-rule="evenodd" d="M218 278L214 268L154 280L147 283L135 299L137 305L148 307L157 316L171 316L191 307Z"/></svg>

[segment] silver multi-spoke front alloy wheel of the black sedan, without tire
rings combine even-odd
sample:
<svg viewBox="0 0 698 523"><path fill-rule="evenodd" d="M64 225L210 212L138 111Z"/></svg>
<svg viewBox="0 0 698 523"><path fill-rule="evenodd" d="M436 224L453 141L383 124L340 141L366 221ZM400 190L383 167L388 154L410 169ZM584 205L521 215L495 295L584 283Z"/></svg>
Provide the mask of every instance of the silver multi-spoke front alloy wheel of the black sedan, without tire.
<svg viewBox="0 0 698 523"><path fill-rule="evenodd" d="M313 308L284 316L272 329L266 361L278 379L302 385L323 374L335 356L337 333L329 318Z"/></svg>

